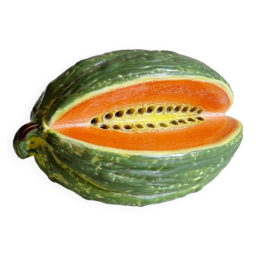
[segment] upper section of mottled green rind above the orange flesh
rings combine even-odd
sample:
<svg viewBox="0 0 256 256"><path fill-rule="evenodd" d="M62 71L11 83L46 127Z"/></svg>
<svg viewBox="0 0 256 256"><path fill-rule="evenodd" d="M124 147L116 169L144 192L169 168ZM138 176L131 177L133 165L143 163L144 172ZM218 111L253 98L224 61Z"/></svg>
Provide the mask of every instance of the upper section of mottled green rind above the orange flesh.
<svg viewBox="0 0 256 256"><path fill-rule="evenodd" d="M173 51L141 49L106 52L83 59L54 79L45 89L43 99L33 108L35 113L45 113L49 122L59 109L64 109L79 97L116 84L138 78L163 76L201 76L227 85L220 73L204 62Z"/></svg>

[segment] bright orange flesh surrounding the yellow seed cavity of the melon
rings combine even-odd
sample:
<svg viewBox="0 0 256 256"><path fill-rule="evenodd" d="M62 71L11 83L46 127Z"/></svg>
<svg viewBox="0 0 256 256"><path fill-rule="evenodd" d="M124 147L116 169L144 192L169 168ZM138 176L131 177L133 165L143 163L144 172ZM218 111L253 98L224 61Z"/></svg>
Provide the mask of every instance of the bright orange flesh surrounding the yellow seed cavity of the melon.
<svg viewBox="0 0 256 256"><path fill-rule="evenodd" d="M148 103L202 106L205 121L196 126L175 130L140 133L103 130L90 125L90 120L96 115ZM182 150L217 143L230 135L238 125L237 120L223 115L230 105L224 89L212 83L191 80L140 83L87 99L52 123L50 128L73 139L103 147L123 150Z"/></svg>

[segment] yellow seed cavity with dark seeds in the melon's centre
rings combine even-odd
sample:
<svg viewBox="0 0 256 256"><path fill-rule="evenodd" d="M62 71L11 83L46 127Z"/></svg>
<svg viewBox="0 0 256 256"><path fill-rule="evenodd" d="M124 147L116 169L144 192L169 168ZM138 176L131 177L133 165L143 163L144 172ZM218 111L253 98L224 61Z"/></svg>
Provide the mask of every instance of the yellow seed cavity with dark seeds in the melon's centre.
<svg viewBox="0 0 256 256"><path fill-rule="evenodd" d="M90 120L90 125L103 130L121 133L149 130L175 130L197 125L205 120L204 108L179 104L145 104L113 109Z"/></svg>

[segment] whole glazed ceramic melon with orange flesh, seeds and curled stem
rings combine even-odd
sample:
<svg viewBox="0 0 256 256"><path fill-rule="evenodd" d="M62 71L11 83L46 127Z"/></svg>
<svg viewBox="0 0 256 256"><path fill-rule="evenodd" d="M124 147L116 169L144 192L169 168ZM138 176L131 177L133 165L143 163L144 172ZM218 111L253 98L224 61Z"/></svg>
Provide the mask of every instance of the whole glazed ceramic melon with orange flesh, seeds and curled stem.
<svg viewBox="0 0 256 256"><path fill-rule="evenodd" d="M77 62L46 87L15 134L50 180L86 200L160 204L202 190L231 162L243 125L204 62L120 50Z"/></svg>

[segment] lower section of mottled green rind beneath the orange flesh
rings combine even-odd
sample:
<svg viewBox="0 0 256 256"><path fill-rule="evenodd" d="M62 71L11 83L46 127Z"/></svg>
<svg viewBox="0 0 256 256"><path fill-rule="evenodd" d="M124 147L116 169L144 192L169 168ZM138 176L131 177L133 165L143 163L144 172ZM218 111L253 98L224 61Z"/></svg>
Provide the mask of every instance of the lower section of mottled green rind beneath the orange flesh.
<svg viewBox="0 0 256 256"><path fill-rule="evenodd" d="M242 140L240 130L223 146L208 150L123 156L48 133L35 161L50 180L86 200L143 207L202 190L227 167Z"/></svg>

